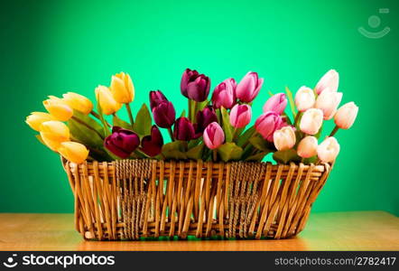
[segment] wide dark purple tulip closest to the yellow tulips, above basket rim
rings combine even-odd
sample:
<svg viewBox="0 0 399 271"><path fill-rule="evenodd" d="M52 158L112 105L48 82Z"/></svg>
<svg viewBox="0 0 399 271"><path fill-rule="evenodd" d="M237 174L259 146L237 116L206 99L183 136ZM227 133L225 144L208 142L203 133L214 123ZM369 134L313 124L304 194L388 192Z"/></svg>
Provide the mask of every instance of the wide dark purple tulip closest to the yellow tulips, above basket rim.
<svg viewBox="0 0 399 271"><path fill-rule="evenodd" d="M107 136L104 146L120 158L127 158L140 145L140 138L135 132L118 126L112 128L112 135Z"/></svg>

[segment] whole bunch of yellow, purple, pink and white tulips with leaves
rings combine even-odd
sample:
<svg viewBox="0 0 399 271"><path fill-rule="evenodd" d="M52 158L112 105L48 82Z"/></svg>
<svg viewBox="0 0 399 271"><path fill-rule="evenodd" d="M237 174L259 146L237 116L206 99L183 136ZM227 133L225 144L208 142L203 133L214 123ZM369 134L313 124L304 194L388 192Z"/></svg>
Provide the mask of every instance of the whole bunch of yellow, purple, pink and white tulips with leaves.
<svg viewBox="0 0 399 271"><path fill-rule="evenodd" d="M130 103L135 87L121 72L112 76L109 87L95 89L96 110L88 98L68 92L43 101L48 113L33 112L26 123L40 133L36 136L44 145L76 164L140 158L262 161L267 154L280 164L332 163L339 154L334 135L353 125L358 110L354 102L339 107L338 72L329 70L314 89L301 87L295 96L288 88L271 94L263 114L248 126L252 102L263 84L264 79L250 71L238 84L225 79L209 98L209 77L187 69L181 77L187 111L177 117L172 102L155 90L149 93L150 108L144 104L134 117ZM124 106L128 121L117 115ZM323 120L329 119L336 126L320 140ZM169 143L160 128L169 133Z"/></svg>

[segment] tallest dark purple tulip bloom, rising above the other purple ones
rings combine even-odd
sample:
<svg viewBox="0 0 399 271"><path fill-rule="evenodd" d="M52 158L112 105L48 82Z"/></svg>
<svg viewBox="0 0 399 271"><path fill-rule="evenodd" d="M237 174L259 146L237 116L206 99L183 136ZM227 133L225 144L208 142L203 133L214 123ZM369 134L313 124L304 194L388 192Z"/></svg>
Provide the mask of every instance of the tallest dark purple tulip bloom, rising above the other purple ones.
<svg viewBox="0 0 399 271"><path fill-rule="evenodd" d="M181 94L197 102L208 98L210 79L197 70L186 69L181 77Z"/></svg>

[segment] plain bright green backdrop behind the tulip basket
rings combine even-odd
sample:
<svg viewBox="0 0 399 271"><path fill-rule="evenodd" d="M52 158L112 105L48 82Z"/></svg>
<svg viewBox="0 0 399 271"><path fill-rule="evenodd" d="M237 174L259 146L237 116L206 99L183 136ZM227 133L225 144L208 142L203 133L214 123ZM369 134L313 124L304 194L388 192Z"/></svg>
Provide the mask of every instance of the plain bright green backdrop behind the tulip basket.
<svg viewBox="0 0 399 271"><path fill-rule="evenodd" d="M134 79L135 111L162 89L178 111L181 72L239 80L248 70L267 90L313 88L339 71L343 102L356 101L356 124L337 137L341 153L314 211L387 210L399 215L397 177L398 1L8 1L1 4L2 212L72 212L60 157L24 124L47 95L76 91L94 99L121 70ZM389 14L378 14L379 8ZM381 25L367 25L370 15ZM391 32L381 39L364 26ZM125 113L125 111L124 111ZM326 130L332 127L329 125Z"/></svg>

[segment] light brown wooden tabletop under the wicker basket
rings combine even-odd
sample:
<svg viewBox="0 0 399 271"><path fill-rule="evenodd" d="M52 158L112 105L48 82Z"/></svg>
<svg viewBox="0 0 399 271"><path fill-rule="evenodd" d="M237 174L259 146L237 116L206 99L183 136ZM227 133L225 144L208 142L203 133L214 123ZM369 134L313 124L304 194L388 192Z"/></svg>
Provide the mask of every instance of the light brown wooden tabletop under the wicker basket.
<svg viewBox="0 0 399 271"><path fill-rule="evenodd" d="M0 214L0 250L399 250L399 218L385 211L314 213L281 240L84 241L72 214Z"/></svg>

